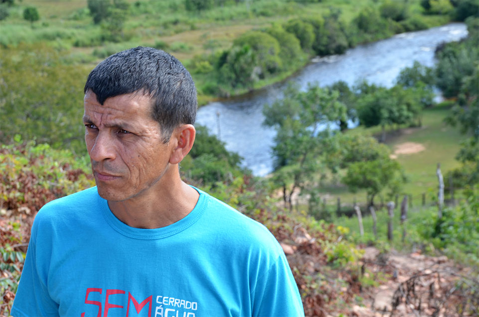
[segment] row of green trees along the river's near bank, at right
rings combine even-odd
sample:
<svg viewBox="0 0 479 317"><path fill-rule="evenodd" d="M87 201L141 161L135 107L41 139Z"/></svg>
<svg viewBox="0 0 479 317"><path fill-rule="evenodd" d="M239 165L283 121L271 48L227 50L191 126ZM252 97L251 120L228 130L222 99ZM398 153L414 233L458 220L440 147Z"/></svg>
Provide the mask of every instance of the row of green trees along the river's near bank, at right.
<svg viewBox="0 0 479 317"><path fill-rule="evenodd" d="M375 138L341 132L347 130L348 121L381 126L379 140L384 142L386 126L420 126L422 110L433 106L434 87L453 98L446 121L459 125L467 136L457 156L463 166L447 177L458 188L478 183L478 23L479 18L469 18L468 38L438 50L435 68L415 62L389 89L365 81L353 87L344 82L324 88L310 85L306 91L291 85L283 99L265 105L264 124L277 132L273 177L282 187L285 203L292 208L292 197L299 191L310 212L320 209L320 184L341 170L340 181L351 192L366 190L368 206L385 189L389 199L399 194L406 177L389 149Z"/></svg>

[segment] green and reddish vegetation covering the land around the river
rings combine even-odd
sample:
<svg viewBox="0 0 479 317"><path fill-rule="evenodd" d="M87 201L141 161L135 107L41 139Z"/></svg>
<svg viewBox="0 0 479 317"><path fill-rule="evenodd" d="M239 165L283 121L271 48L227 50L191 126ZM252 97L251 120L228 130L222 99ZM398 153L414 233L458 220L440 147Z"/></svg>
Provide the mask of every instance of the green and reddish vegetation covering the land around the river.
<svg viewBox="0 0 479 317"><path fill-rule="evenodd" d="M1 314L9 314L38 209L94 185L79 120L86 76L100 60L138 45L164 49L191 71L204 103L282 80L313 56L457 20L466 21L468 38L438 48L433 68L416 63L404 69L391 88L368 82L306 91L289 86L284 99L263 110L265 124L277 131L275 170L268 177L251 175L237 154L200 126L181 173L276 236L307 316L358 316L353 306L374 302L377 287L396 282L387 262L390 248L446 254L469 266L467 278L447 279L432 296L444 304L430 304L428 311L477 315L478 15L474 0L2 0ZM446 101L435 104L434 89ZM360 126L348 130L348 120ZM324 122L340 130L319 131ZM427 149L396 151L407 142ZM444 153L456 159L442 161ZM446 184L441 215L437 176L424 172L439 161ZM410 212L400 221L404 195ZM362 197L356 205L363 210L364 234L358 219L349 217L355 197ZM398 197L388 239L384 208ZM339 208L336 198L343 202ZM377 235L369 207L377 211ZM366 254L366 244L379 250L375 258ZM396 296L396 304L409 304L411 294ZM421 307L419 300L409 313Z"/></svg>

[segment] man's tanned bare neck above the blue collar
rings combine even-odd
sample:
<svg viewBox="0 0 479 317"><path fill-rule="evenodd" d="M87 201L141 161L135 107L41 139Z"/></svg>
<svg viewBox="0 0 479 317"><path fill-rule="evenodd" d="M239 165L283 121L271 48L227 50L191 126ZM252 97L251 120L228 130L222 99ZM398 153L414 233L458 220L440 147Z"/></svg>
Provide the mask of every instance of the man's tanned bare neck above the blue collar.
<svg viewBox="0 0 479 317"><path fill-rule="evenodd" d="M186 217L198 198L198 192L184 183L177 171L175 177L163 177L144 193L124 201L108 201L108 205L130 227L155 229Z"/></svg>

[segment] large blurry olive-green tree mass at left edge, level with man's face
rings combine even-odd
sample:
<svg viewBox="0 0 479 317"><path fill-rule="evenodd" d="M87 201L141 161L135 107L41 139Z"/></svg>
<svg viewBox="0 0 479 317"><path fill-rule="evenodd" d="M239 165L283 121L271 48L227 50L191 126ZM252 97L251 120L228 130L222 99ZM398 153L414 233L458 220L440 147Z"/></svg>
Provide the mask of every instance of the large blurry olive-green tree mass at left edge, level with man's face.
<svg viewBox="0 0 479 317"><path fill-rule="evenodd" d="M85 153L83 85L87 71L62 63L64 53L46 45L4 49L1 59L0 115L3 144L15 134L53 147Z"/></svg>

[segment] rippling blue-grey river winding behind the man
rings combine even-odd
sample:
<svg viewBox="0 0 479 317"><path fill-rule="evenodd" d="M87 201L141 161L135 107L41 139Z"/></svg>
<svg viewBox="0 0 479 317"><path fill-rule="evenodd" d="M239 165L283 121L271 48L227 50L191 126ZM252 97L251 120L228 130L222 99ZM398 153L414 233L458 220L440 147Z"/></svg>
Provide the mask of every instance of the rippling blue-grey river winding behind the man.
<svg viewBox="0 0 479 317"><path fill-rule="evenodd" d="M196 123L226 143L228 151L243 157L243 166L263 176L273 170L271 148L275 131L262 125L262 109L281 98L289 81L305 90L309 83L328 86L345 81L349 86L366 79L384 87L394 85L401 69L411 67L415 60L426 66L435 63L435 48L442 42L458 41L467 36L464 23L451 23L427 30L396 34L391 38L360 45L342 55L315 58L289 78L258 91L221 102L212 102L198 110Z"/></svg>

